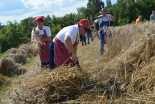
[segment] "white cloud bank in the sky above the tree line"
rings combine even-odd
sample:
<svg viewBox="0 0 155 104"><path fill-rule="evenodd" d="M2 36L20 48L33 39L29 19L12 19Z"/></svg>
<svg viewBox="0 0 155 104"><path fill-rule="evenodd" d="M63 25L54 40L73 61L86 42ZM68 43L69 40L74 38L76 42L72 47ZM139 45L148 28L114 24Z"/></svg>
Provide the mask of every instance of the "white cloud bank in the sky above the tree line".
<svg viewBox="0 0 155 104"><path fill-rule="evenodd" d="M0 22L5 25L7 21L20 22L28 17L38 15L64 16L69 13L77 13L77 8L86 7L88 0L20 0L24 5L19 10L8 11L8 14L0 16ZM10 5L11 6L11 5Z"/></svg>

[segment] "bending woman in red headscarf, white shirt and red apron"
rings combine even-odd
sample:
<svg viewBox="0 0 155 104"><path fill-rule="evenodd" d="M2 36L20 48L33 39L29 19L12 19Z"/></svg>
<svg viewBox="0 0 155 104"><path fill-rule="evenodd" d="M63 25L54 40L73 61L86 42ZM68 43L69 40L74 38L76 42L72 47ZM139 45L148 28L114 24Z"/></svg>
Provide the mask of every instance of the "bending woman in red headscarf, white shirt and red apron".
<svg viewBox="0 0 155 104"><path fill-rule="evenodd" d="M78 61L77 45L82 34L90 33L90 22L81 19L76 25L63 28L50 43L50 70Z"/></svg>

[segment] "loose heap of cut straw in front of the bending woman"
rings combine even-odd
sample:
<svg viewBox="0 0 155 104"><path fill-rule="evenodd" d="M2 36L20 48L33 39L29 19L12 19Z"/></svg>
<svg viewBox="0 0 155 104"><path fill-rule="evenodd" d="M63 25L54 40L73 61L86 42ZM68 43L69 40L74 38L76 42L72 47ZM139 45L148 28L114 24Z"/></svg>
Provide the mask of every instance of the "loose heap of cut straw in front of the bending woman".
<svg viewBox="0 0 155 104"><path fill-rule="evenodd" d="M57 103L75 99L90 89L87 75L74 68L60 67L53 72L43 72L31 81L15 89L11 98L14 103Z"/></svg>

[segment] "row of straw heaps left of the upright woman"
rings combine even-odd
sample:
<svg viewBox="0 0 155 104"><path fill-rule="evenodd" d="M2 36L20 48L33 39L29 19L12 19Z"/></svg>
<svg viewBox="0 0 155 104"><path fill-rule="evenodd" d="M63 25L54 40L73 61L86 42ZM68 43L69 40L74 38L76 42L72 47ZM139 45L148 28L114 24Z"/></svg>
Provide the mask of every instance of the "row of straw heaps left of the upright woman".
<svg viewBox="0 0 155 104"><path fill-rule="evenodd" d="M7 76L24 74L26 69L22 64L36 54L37 51L31 43L21 45L18 49L9 49L0 60L0 74Z"/></svg>

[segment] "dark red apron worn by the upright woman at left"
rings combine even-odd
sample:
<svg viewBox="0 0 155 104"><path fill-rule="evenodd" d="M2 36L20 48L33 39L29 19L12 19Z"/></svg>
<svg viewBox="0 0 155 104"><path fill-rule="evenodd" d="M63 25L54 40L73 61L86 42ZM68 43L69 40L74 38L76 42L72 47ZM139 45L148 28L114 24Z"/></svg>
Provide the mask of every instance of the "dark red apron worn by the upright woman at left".
<svg viewBox="0 0 155 104"><path fill-rule="evenodd" d="M47 37L46 31L44 30L44 35L41 35L41 37ZM50 41L44 42L45 44L41 45L39 44L39 56L42 61L42 63L49 62L49 44Z"/></svg>

